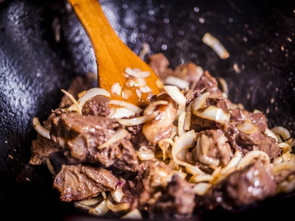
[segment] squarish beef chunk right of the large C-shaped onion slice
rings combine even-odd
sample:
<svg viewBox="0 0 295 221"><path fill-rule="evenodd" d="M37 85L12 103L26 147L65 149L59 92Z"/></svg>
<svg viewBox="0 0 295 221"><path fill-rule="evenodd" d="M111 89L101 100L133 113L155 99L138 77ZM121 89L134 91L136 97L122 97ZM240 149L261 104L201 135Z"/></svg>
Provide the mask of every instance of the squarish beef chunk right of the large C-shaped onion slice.
<svg viewBox="0 0 295 221"><path fill-rule="evenodd" d="M207 157L218 160L219 165L226 166L233 157L233 150L231 149L228 139L221 130L207 130L198 134L201 144L201 153L203 148L208 149ZM200 162L197 154L197 146L192 150L193 159L195 162ZM201 162L200 163L204 163ZM219 166L218 165L218 166Z"/></svg>

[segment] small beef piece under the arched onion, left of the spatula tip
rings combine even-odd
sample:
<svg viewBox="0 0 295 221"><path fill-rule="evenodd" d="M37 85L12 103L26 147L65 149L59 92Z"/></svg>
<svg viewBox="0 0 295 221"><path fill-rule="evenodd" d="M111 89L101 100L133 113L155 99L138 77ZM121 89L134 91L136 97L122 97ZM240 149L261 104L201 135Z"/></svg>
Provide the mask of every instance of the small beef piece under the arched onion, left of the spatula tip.
<svg viewBox="0 0 295 221"><path fill-rule="evenodd" d="M111 112L109 107L110 99L97 95L89 99L83 107L83 115L96 115L96 116L108 116Z"/></svg>

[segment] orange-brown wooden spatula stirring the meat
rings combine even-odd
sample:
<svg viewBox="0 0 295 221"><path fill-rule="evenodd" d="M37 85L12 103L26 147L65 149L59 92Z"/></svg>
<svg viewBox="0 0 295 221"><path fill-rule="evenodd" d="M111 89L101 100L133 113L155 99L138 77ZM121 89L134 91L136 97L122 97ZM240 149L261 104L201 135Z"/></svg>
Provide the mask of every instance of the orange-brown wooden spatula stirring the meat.
<svg viewBox="0 0 295 221"><path fill-rule="evenodd" d="M150 76L146 78L147 85L153 94L158 94L160 92L156 85L156 81L160 80L158 75L120 40L105 17L98 0L69 0L69 2L92 43L98 67L99 86L111 93L111 99L127 101L137 106L148 104L148 93L142 94L139 99L133 88L132 95L124 100L122 96L114 95L111 88L114 83L119 83L123 89L126 82L124 70L127 67L139 68L150 72ZM161 83L161 80L157 83Z"/></svg>

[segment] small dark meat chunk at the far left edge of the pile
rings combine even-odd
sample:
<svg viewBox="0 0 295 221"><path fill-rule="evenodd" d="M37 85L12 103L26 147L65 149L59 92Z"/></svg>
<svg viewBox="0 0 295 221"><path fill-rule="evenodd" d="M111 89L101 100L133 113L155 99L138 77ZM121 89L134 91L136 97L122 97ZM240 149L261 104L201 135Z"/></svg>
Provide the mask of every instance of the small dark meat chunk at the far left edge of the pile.
<svg viewBox="0 0 295 221"><path fill-rule="evenodd" d="M32 157L29 163L32 165L40 165L46 162L46 158L49 157L51 153L57 151L59 151L59 149L51 142L50 139L37 134L37 139L33 140L31 145Z"/></svg>

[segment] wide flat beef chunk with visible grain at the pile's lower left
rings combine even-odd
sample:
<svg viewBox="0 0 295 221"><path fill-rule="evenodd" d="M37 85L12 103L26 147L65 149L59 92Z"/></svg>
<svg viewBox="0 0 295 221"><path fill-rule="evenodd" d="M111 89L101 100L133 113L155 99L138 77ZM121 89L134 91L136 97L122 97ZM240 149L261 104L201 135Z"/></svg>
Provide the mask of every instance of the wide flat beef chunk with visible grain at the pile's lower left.
<svg viewBox="0 0 295 221"><path fill-rule="evenodd" d="M115 190L117 185L118 178L111 171L83 165L63 165L53 183L60 200L66 202L90 199L101 192Z"/></svg>

